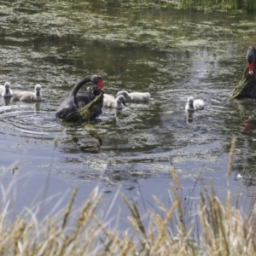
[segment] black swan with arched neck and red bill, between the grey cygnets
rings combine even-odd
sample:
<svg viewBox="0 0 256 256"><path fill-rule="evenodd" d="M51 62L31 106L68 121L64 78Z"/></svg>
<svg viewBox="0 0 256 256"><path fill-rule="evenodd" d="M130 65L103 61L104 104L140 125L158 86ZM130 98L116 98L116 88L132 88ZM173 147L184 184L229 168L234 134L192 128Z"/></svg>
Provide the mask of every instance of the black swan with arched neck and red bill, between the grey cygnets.
<svg viewBox="0 0 256 256"><path fill-rule="evenodd" d="M79 90L82 85L92 82L92 87ZM94 119L102 113L104 84L102 77L96 74L81 79L73 87L67 98L61 103L55 116L66 121Z"/></svg>

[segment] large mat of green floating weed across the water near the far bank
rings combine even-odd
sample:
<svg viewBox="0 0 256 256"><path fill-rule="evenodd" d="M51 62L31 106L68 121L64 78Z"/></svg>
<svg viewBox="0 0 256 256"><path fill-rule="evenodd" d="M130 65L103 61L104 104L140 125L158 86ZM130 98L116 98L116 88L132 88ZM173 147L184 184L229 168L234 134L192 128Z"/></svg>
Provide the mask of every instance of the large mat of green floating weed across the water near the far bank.
<svg viewBox="0 0 256 256"><path fill-rule="evenodd" d="M163 9L163 15L152 17L151 11L145 13L143 9L150 10L149 8L152 7L161 9L161 4L148 1L120 3L124 9L121 12L115 12L115 15L108 15L108 11L110 13L113 11L108 8L108 4L96 3L95 5L99 4L101 4L101 9L88 8L90 3L61 1L61 3L53 2L45 5L26 3L23 0L15 3L14 6L3 5L0 12L2 11L4 15L0 17L0 20L2 29L9 32L14 30L21 33L34 32L59 38L80 35L81 38L100 41L103 44L120 46L137 44L148 48L154 47L154 49L168 49L170 45L175 47L180 43L184 47L208 43L208 39L205 39L206 41L191 40L191 29L195 30L195 34L209 34L211 37L212 33L237 32L237 26L234 30L229 30L230 24L224 31L224 24L220 24L218 20L205 21L200 26L197 23L180 22L179 19L172 17L172 9ZM128 6L132 8L129 11L125 9ZM102 11L102 7L106 7L108 11ZM170 15L167 15L169 12ZM246 24L246 22L241 22L241 26L244 26L244 23ZM247 26L252 25L247 24ZM183 37L187 39L183 40ZM191 41L194 43L191 44ZM218 45L220 42L213 44Z"/></svg>

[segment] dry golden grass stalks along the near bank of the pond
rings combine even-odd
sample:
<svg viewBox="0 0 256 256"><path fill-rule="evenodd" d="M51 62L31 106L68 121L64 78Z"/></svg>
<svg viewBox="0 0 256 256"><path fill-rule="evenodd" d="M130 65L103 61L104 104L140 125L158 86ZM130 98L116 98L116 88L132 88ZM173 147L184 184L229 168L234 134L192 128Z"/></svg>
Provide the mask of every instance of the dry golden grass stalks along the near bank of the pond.
<svg viewBox="0 0 256 256"><path fill-rule="evenodd" d="M234 148L235 141L231 143L228 179ZM128 220L133 228L133 231L123 234L108 230L108 224L96 216L102 199L97 189L81 208L72 228L68 227L68 218L71 218L77 189L73 191L61 221L48 219L40 223L32 214L29 221L17 217L15 222L6 226L3 210L0 216L0 255L256 255L253 207L243 217L241 209L231 206L229 189L226 202L222 204L213 185L208 191L201 181L202 192L196 212L190 212L189 204L194 205L194 202L184 203L183 189L175 170L172 170L172 176L171 207L165 207L154 198L155 207L159 207L163 214L148 212L146 225L136 204L123 197L131 211ZM195 221L189 221L191 219Z"/></svg>

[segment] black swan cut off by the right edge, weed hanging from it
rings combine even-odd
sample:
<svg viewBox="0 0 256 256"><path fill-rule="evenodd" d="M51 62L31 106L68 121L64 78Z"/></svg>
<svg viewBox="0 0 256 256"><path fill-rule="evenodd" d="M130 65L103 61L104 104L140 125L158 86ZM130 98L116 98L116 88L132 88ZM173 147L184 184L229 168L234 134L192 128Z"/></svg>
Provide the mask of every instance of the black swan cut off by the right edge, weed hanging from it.
<svg viewBox="0 0 256 256"><path fill-rule="evenodd" d="M247 49L247 67L245 68L242 77L230 97L236 98L255 98L256 97L256 49L250 46Z"/></svg>

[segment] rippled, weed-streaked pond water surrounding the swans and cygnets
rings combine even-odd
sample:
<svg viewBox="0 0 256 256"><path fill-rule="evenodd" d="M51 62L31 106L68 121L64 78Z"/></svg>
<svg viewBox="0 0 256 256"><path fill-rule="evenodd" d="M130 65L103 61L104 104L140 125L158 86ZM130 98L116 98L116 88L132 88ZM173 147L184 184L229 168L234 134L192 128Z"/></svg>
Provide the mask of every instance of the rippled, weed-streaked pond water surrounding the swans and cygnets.
<svg viewBox="0 0 256 256"><path fill-rule="evenodd" d="M0 82L13 90L41 84L44 96L37 103L0 98L2 185L15 187L11 207L20 212L54 195L44 206L50 212L64 207L76 186L81 206L99 185L107 205L122 192L143 214L154 208L152 195L170 204L172 166L188 193L201 173L224 199L234 137L230 189L251 196L256 102L229 96L246 67L247 47L256 42L255 23L254 15L129 2L0 1ZM90 123L55 119L68 91L91 73L102 75L108 94L149 91L152 98L121 111L103 108ZM203 99L206 108L188 116L188 96ZM126 227L129 212L119 196L116 201L109 211L121 212Z"/></svg>

